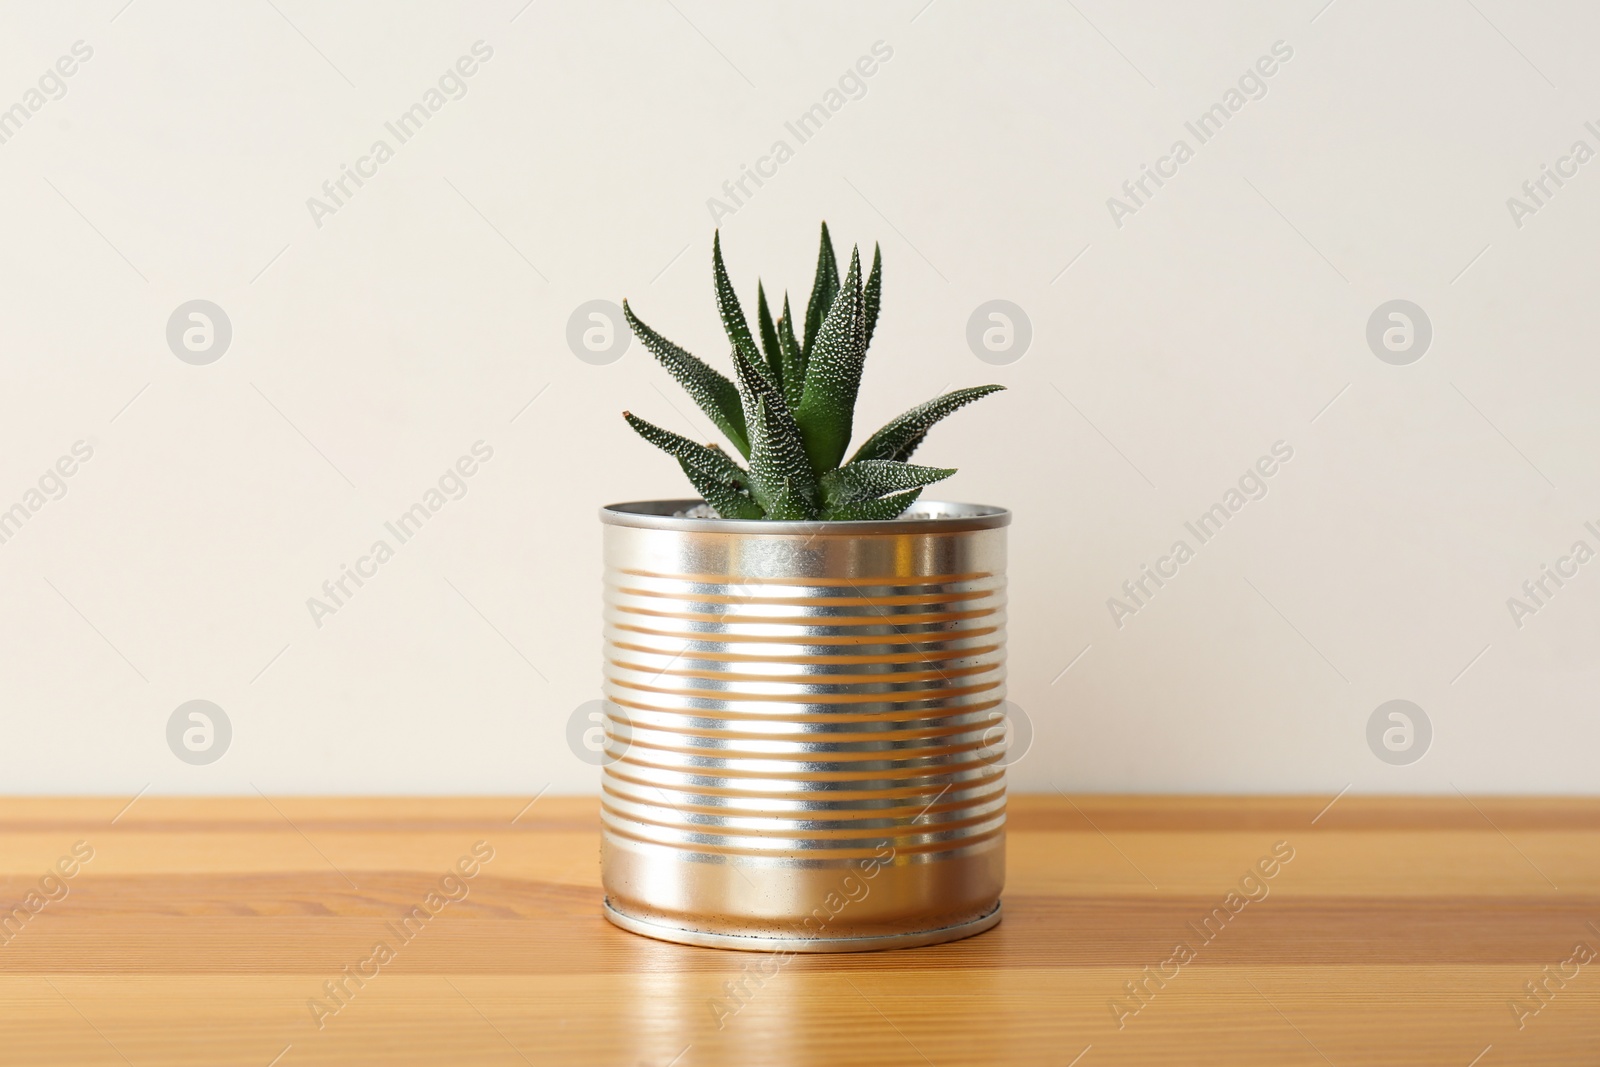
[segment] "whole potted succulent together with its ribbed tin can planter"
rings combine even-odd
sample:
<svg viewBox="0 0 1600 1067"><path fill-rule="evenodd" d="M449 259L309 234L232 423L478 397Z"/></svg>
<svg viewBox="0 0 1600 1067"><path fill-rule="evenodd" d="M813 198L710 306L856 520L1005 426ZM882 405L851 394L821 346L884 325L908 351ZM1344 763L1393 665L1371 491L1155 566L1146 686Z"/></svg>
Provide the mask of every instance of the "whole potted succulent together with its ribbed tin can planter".
<svg viewBox="0 0 1600 1067"><path fill-rule="evenodd" d="M701 501L602 509L606 917L666 941L850 952L1000 920L1010 512L918 501L912 408L843 462L882 254L840 280L822 226L803 330L757 288L752 331L712 243L734 379L629 326L749 459L629 424Z"/></svg>

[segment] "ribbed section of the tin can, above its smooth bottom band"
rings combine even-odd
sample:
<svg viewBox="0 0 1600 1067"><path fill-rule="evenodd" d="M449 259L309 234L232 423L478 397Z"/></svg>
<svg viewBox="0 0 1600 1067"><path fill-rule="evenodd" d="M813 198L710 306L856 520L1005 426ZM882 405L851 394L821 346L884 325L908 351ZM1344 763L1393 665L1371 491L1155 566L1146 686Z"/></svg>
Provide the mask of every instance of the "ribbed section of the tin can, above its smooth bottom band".
<svg viewBox="0 0 1600 1067"><path fill-rule="evenodd" d="M1008 517L922 507L949 517L606 526L611 843L757 867L998 843Z"/></svg>

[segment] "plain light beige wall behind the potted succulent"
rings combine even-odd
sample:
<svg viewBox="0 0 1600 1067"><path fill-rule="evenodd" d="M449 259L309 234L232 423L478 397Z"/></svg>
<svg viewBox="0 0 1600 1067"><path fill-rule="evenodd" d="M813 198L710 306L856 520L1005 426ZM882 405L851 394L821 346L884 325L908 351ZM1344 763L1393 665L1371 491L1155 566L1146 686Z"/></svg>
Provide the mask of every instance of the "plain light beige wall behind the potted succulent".
<svg viewBox="0 0 1600 1067"><path fill-rule="evenodd" d="M0 544L0 792L592 790L565 737L598 680L594 510L685 491L618 413L710 430L637 342L581 362L568 320L627 296L720 358L712 197L747 301L757 270L803 301L819 218L882 242L866 419L1011 387L925 454L1016 512L1018 787L1600 784L1600 561L1507 606L1600 549L1600 162L1560 162L1600 149L1592 8L122 3L0 32L27 112L0 144L0 507L93 450ZM402 144L384 123L475 42ZM1134 202L1144 165L1171 176ZM1541 165L1576 174L1534 203ZM194 299L232 325L210 365L166 341ZM1032 330L1000 366L966 341L992 299ZM1394 299L1432 323L1408 365L1366 341ZM386 534L477 442L466 494ZM379 537L318 625L307 598ZM210 765L168 749L192 699L232 726ZM1368 744L1392 699L1432 725L1419 761Z"/></svg>

